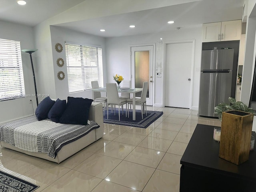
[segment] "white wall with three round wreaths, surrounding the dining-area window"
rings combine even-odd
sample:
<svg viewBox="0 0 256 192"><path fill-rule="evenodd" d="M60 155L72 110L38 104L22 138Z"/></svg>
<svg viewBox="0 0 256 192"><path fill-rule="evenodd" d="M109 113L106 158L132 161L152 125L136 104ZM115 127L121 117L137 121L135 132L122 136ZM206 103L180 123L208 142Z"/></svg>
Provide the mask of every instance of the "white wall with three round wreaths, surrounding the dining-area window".
<svg viewBox="0 0 256 192"><path fill-rule="evenodd" d="M67 99L70 97L82 97L82 98L92 98L92 91L81 91L69 94L68 93L68 76L67 76L67 65L66 65L66 54L65 54L65 41L78 43L80 45L90 45L90 46L100 46L102 48L102 61L103 61L103 76L106 77L106 54L105 54L105 38L85 34L81 32L76 32L73 30L68 30L58 26L50 26L51 40L52 40L52 56L53 56L53 68L54 68L54 82L56 98ZM62 52L57 52L55 50L55 44L60 43L63 47ZM56 63L58 58L64 60L64 66L59 67ZM65 78L59 80L57 74L59 71L63 71ZM106 78L105 78L106 79ZM104 79L104 82L105 82Z"/></svg>

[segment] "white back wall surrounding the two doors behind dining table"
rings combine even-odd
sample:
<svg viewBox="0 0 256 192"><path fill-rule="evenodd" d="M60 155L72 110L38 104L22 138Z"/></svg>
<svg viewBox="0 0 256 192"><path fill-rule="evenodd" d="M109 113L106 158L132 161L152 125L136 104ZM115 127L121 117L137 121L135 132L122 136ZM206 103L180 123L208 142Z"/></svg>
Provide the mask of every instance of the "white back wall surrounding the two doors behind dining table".
<svg viewBox="0 0 256 192"><path fill-rule="evenodd" d="M201 66L202 28L174 30L168 32L160 32L157 34L143 34L136 36L106 38L106 61L108 82L113 82L112 75L116 73L122 75L125 79L130 78L130 45L155 43L155 65L163 66L164 49L163 43L159 43L160 38L163 38L163 42L195 39L194 69L192 69L194 72L194 81L192 85L192 108L197 109L199 100L200 71L196 71L196 68L200 68ZM163 80L163 78L156 78L156 72L154 72L154 106L162 106L163 104Z"/></svg>

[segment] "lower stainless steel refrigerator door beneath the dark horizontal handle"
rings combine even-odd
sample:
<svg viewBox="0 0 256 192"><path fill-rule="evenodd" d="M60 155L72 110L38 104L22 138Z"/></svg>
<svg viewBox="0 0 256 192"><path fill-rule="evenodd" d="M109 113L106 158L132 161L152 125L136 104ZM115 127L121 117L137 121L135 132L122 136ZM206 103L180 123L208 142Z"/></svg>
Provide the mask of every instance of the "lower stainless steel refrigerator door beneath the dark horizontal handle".
<svg viewBox="0 0 256 192"><path fill-rule="evenodd" d="M200 78L199 109L200 116L217 117L214 107L221 102L228 103L231 96L232 72L203 73Z"/></svg>

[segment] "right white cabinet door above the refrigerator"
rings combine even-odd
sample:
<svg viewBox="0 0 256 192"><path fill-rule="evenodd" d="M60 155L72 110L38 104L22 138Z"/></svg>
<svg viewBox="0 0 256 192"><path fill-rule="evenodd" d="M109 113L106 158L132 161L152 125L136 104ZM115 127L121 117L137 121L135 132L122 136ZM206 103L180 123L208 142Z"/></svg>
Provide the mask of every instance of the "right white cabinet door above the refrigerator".
<svg viewBox="0 0 256 192"><path fill-rule="evenodd" d="M221 23L221 41L240 40L242 20Z"/></svg>

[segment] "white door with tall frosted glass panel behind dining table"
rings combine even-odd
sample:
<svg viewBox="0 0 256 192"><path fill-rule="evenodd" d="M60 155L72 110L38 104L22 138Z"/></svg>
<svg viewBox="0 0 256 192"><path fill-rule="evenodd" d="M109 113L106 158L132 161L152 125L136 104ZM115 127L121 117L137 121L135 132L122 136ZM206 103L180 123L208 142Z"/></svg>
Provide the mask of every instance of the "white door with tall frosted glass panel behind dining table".
<svg viewBox="0 0 256 192"><path fill-rule="evenodd" d="M148 81L149 106L153 105L153 51L153 45L131 47L132 88L142 88L143 82ZM136 97L140 95L141 92L136 93Z"/></svg>

